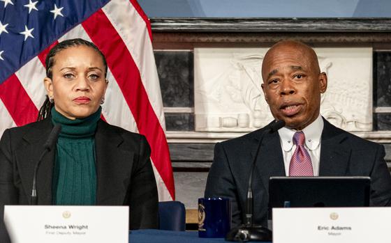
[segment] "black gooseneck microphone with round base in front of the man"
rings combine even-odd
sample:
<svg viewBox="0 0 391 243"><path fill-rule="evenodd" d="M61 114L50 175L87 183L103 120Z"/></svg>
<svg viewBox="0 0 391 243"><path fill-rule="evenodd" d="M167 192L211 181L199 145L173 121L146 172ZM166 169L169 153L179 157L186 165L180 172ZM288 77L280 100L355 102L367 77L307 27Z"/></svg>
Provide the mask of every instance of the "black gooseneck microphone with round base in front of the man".
<svg viewBox="0 0 391 243"><path fill-rule="evenodd" d="M247 189L246 197L246 219L245 224L233 228L226 235L226 240L233 242L248 242L248 241L272 241L272 231L260 225L253 224L253 172L256 166L256 160L258 158L260 146L263 138L267 133L273 133L285 126L283 120L276 120L274 123L270 123L265 127L265 130L260 134L260 140L258 148L256 150L256 156L253 159L249 176L249 187Z"/></svg>

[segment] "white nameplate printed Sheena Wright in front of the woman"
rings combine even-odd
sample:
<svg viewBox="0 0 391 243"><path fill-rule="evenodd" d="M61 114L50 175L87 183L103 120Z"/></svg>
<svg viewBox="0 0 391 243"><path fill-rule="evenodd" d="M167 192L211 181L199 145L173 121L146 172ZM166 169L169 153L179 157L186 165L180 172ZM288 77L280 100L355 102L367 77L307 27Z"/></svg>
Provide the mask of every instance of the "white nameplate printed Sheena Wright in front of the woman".
<svg viewBox="0 0 391 243"><path fill-rule="evenodd" d="M6 205L12 242L128 242L128 206Z"/></svg>

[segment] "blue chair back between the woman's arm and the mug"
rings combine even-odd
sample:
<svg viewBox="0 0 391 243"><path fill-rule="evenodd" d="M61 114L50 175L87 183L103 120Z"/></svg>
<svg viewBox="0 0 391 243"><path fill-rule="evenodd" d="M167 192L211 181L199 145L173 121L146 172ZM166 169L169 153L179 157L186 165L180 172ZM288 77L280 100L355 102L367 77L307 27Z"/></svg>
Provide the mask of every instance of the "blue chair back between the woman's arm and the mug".
<svg viewBox="0 0 391 243"><path fill-rule="evenodd" d="M158 203L159 223L161 230L184 231L186 226L186 212L184 204L179 201Z"/></svg>

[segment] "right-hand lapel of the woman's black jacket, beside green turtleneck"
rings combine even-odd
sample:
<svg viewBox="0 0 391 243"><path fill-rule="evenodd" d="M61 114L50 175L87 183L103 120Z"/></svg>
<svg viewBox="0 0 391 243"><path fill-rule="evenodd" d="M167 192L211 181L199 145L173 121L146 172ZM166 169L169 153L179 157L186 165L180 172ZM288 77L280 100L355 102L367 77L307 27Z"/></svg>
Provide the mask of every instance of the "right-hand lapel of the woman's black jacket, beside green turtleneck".
<svg viewBox="0 0 391 243"><path fill-rule="evenodd" d="M95 134L96 205L122 205L131 180L133 152L110 126L98 121Z"/></svg>

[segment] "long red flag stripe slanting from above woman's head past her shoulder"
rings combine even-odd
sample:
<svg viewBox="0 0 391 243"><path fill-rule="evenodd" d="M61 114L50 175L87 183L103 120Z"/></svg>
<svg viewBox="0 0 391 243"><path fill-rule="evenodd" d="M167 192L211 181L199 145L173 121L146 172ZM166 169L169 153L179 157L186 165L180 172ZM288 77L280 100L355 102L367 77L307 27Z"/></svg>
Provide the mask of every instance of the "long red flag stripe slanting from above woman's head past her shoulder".
<svg viewBox="0 0 391 243"><path fill-rule="evenodd" d="M95 24L96 22L99 25ZM165 166L170 166L168 145L164 142L165 135L156 118L154 109L149 104L147 93L140 79L140 72L132 56L128 53L126 45L102 10L91 15L89 19L82 23L82 26L108 59L110 70L122 93L128 94L128 97L125 97L126 102L131 108L138 130L141 134L145 134L152 147L152 161L159 159L165 162L155 164L155 166L166 183L171 198L175 198L172 173L169 173L165 168ZM113 48L115 48L115 52L113 52Z"/></svg>

